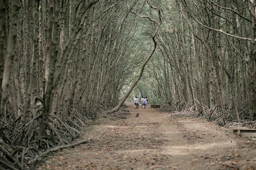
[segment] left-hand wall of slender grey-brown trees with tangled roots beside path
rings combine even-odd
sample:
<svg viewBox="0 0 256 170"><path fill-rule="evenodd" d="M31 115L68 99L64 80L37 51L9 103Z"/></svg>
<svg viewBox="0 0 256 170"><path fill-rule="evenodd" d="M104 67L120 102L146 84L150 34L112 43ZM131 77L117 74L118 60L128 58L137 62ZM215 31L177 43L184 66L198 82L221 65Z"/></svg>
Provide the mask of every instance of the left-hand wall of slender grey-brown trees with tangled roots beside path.
<svg viewBox="0 0 256 170"><path fill-rule="evenodd" d="M0 169L23 169L112 115L138 67L143 6L157 10L139 0L0 2Z"/></svg>

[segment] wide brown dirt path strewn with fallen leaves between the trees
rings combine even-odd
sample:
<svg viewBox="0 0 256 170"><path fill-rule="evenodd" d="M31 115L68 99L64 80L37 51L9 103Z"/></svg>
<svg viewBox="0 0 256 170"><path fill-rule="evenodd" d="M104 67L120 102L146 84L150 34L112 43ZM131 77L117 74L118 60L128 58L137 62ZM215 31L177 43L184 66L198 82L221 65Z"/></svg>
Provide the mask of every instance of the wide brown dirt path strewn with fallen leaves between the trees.
<svg viewBox="0 0 256 170"><path fill-rule="evenodd" d="M211 122L134 109L128 119L102 120L84 134L91 142L63 149L40 170L255 170L254 141ZM135 117L139 113L140 117Z"/></svg>

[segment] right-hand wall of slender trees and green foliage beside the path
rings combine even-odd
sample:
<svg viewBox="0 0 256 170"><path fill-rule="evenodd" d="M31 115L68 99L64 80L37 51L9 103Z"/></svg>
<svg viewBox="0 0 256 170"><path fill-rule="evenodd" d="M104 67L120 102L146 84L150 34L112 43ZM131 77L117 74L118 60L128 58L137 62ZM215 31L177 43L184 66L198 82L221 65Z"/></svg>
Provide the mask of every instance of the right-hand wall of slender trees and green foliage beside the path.
<svg viewBox="0 0 256 170"><path fill-rule="evenodd" d="M154 96L176 108L193 107L196 115L222 125L255 121L256 1L176 0L160 6L164 23L148 71L157 80L148 81Z"/></svg>

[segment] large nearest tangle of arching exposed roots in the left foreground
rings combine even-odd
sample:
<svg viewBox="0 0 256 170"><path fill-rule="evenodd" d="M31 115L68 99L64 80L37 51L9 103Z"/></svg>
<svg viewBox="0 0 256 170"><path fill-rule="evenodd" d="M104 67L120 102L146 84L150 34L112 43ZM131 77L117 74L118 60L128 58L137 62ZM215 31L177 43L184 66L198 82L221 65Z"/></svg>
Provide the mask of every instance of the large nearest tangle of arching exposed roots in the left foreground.
<svg viewBox="0 0 256 170"><path fill-rule="evenodd" d="M35 112L36 113L36 112ZM36 114L26 114L26 124L23 129L20 127L20 117L14 120L12 125L6 124L8 130L4 131L2 136L8 143L0 139L0 169L24 169L28 164L32 163L33 158L40 156L42 150L44 154L54 151L58 148L72 147L78 145L79 143L85 143L86 140L76 142L74 144L69 144L70 141L75 139L80 133L80 131L67 125L65 122L61 121L56 115L50 115L49 122L46 123L45 127L48 131L47 136L38 136L38 131L40 130L41 113ZM24 115L23 115L24 116ZM51 117L53 119L51 119ZM21 133L23 130L23 133ZM22 135L24 134L24 135ZM18 145L19 138L22 138L22 145ZM67 141L66 139L69 139ZM65 143L67 145L62 145ZM59 146L58 146L59 145ZM13 146L13 147L10 147ZM56 147L58 146L58 147ZM54 148L53 148L54 147ZM40 150L40 152L39 152Z"/></svg>

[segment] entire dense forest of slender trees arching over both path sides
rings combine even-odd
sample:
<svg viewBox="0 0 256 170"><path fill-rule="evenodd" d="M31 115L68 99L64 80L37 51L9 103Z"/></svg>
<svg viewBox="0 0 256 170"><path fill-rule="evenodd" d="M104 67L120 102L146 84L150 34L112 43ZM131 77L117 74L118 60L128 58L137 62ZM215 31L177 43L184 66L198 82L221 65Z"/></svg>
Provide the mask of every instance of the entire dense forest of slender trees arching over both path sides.
<svg viewBox="0 0 256 170"><path fill-rule="evenodd" d="M0 170L73 146L134 96L256 120L256 0L1 0Z"/></svg>

